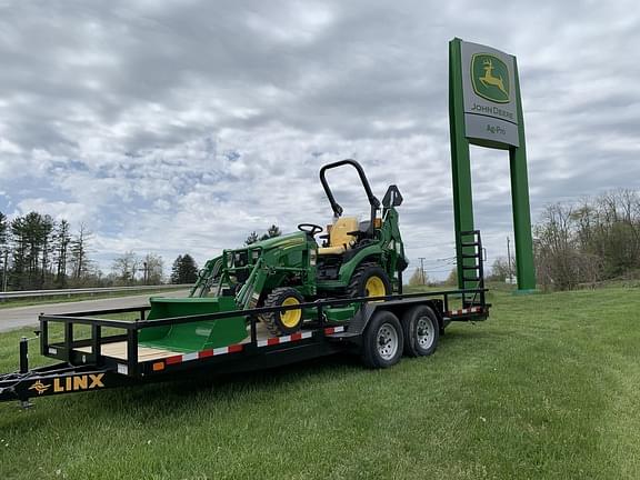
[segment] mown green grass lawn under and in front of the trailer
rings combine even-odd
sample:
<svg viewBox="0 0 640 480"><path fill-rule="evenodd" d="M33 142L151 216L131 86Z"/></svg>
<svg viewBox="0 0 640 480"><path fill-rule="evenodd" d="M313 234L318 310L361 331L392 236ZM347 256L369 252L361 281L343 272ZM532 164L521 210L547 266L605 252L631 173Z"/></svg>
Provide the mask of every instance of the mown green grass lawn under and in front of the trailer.
<svg viewBox="0 0 640 480"><path fill-rule="evenodd" d="M336 357L0 404L0 479L640 478L640 289L491 301L389 370Z"/></svg>

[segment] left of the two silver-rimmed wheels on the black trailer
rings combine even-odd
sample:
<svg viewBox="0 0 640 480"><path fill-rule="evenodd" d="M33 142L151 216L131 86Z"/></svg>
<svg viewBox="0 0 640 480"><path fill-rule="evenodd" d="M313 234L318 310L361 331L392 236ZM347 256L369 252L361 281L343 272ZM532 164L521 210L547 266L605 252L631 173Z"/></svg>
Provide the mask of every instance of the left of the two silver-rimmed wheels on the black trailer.
<svg viewBox="0 0 640 480"><path fill-rule="evenodd" d="M364 331L362 362L376 369L394 366L402 357L403 344L402 327L398 317L389 311L379 311Z"/></svg>

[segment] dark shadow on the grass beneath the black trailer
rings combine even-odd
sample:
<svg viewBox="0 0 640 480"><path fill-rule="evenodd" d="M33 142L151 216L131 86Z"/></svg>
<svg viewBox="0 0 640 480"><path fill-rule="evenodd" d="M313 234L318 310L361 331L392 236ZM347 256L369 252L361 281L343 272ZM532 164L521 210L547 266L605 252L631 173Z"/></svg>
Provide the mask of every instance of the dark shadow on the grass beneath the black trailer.
<svg viewBox="0 0 640 480"><path fill-rule="evenodd" d="M447 334L441 337L439 349L434 354L447 356L451 351L448 347L462 347L467 350L464 348L467 344L490 340L496 336L496 332L467 327L470 326L448 330ZM459 360L458 357L459 352L457 353ZM392 369L389 372L392 374ZM153 416L181 414L180 412L186 410L201 408L203 402L224 402L226 408L234 410L246 406L247 397L252 401L261 401L264 396L278 394L287 389L304 388L308 383L340 382L349 378L358 381L377 374L378 371L362 366L358 354L336 353L243 373L212 373L201 370L186 372L182 378L167 379L157 383L34 400L36 409L47 402L49 404L47 407L42 404L42 410L68 410L66 416L70 417L80 418L101 412L116 421L139 420ZM18 418L16 420L20 422Z"/></svg>

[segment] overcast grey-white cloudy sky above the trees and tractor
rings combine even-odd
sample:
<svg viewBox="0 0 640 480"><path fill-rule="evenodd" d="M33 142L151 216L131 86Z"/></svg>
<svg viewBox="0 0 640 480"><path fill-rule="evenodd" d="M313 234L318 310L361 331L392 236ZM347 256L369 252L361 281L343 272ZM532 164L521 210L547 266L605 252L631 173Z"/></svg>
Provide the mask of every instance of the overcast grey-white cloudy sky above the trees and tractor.
<svg viewBox="0 0 640 480"><path fill-rule="evenodd" d="M412 264L450 266L448 41L518 57L532 216L640 184L634 1L0 0L0 211L200 262L271 223L326 224L321 164L397 183ZM489 260L512 237L508 156L472 149ZM354 177L333 176L364 213Z"/></svg>

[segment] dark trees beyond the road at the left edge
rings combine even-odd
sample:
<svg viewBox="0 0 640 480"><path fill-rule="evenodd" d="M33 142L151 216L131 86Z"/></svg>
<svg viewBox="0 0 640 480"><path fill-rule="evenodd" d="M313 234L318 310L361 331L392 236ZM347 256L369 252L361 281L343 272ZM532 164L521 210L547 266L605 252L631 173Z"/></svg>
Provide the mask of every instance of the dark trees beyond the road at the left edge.
<svg viewBox="0 0 640 480"><path fill-rule="evenodd" d="M162 257L139 257L128 251L104 274L90 258L92 233L84 223L73 230L69 221L36 211L9 219L0 212L0 291L192 283L198 266L188 253L173 262L164 277Z"/></svg>

